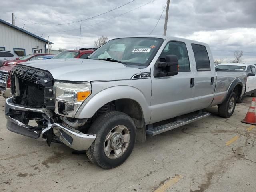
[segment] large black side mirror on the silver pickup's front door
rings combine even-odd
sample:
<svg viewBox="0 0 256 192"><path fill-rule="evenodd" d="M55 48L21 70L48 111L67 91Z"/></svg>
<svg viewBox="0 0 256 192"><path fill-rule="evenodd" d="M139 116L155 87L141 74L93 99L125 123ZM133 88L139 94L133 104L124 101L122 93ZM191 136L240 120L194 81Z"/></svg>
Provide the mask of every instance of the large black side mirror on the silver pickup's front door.
<svg viewBox="0 0 256 192"><path fill-rule="evenodd" d="M154 77L168 77L179 73L179 62L176 55L166 55L165 62L158 61L154 67Z"/></svg>

